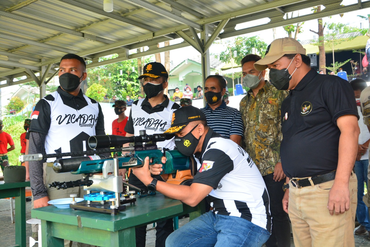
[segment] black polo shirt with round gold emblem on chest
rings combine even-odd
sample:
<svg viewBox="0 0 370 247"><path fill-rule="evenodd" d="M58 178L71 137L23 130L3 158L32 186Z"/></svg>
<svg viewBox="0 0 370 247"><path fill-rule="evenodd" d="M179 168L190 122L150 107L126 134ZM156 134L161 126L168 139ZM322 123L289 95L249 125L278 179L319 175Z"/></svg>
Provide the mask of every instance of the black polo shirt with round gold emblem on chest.
<svg viewBox="0 0 370 247"><path fill-rule="evenodd" d="M282 103L280 156L287 177L309 177L336 170L340 116L357 116L349 82L310 70Z"/></svg>

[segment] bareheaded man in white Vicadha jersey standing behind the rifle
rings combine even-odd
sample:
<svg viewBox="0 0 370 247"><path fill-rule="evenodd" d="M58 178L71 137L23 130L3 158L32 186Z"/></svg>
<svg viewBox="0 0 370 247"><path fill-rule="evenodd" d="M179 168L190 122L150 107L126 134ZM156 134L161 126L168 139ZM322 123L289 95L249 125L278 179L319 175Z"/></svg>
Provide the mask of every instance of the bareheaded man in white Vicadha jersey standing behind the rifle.
<svg viewBox="0 0 370 247"><path fill-rule="evenodd" d="M80 89L87 76L85 70L85 61L80 56L67 54L62 57L58 73L60 87L38 101L32 113L28 129L29 154L91 150L88 147L88 138L105 134L104 116L99 103L85 96ZM55 173L52 168L54 160L55 158L48 158L46 161L46 184L82 178L81 174ZM77 194L77 197L84 194L83 187L65 190L46 188L43 181L43 161L30 161L29 170L34 208L48 206L49 200L69 198L70 194ZM69 242L65 240L65 246L69 246Z"/></svg>

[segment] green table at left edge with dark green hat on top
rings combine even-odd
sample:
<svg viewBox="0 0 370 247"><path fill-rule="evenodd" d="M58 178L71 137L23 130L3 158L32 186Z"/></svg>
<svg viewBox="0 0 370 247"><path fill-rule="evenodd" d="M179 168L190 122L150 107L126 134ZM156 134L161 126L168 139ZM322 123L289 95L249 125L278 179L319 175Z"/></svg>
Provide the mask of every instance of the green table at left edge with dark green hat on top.
<svg viewBox="0 0 370 247"><path fill-rule="evenodd" d="M0 181L0 198L16 198L16 245L26 247L26 189L30 181L4 183Z"/></svg>

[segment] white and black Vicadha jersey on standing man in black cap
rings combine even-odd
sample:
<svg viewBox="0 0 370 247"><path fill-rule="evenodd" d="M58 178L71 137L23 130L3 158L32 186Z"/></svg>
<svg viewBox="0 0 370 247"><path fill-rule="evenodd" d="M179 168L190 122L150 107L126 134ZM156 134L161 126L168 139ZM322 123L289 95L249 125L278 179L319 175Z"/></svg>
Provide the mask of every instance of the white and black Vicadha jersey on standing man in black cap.
<svg viewBox="0 0 370 247"><path fill-rule="evenodd" d="M152 107L148 99L139 99L134 101L131 106L125 131L135 136L139 135L140 130L146 130L148 135L161 134L171 127L172 113L180 106L169 100L165 95L165 100L155 107ZM174 138L171 140L157 142L161 148L174 149Z"/></svg>

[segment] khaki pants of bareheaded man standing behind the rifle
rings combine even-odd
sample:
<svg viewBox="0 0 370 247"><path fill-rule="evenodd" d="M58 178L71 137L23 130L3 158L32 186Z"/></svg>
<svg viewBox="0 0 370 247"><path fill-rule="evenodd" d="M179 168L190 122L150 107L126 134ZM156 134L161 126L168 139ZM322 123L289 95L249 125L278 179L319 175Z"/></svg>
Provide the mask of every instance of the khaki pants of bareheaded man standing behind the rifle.
<svg viewBox="0 0 370 247"><path fill-rule="evenodd" d="M82 178L82 174L75 175L71 173L56 173L54 172L52 167L46 167L46 183L50 184L54 181L57 182L65 182L65 181L75 181ZM67 188L65 190L57 190L56 188L48 188L47 194L50 200L61 199L61 198L69 198L70 194L77 194L77 197L84 197L86 191L83 187L74 187L74 188ZM64 240L64 247L70 247L70 240ZM83 244L77 243L78 247L89 247L90 244Z"/></svg>

